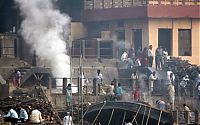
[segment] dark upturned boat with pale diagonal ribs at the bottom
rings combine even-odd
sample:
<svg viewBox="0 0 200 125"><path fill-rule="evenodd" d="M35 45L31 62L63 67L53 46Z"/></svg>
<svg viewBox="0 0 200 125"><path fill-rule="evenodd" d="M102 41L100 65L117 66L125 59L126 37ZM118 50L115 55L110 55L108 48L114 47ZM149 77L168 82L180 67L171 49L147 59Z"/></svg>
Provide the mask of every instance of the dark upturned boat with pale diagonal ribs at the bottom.
<svg viewBox="0 0 200 125"><path fill-rule="evenodd" d="M133 125L172 125L170 112L133 102L102 102L89 107L83 116L92 125L124 125L131 119Z"/></svg>

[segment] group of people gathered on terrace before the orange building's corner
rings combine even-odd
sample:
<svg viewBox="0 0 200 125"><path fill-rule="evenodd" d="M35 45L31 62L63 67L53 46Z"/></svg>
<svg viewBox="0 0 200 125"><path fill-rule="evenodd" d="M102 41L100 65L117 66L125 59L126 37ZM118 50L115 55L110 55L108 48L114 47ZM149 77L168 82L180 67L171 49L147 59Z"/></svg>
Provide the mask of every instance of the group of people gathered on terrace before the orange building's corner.
<svg viewBox="0 0 200 125"><path fill-rule="evenodd" d="M153 52L152 45L145 47L143 50L138 49L135 51L134 47L129 50L125 49L121 55L121 61L128 64L128 68L134 66L152 67L153 65ZM169 55L166 48L159 46L155 51L155 64L156 69L161 70L164 64L169 60Z"/></svg>

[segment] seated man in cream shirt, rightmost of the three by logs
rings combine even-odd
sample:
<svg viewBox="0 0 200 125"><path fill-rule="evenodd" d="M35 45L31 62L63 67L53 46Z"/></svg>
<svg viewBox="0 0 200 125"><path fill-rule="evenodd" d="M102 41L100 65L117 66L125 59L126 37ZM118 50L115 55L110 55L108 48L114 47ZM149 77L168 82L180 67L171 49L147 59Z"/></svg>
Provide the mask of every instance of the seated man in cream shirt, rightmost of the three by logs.
<svg viewBox="0 0 200 125"><path fill-rule="evenodd" d="M42 119L42 114L39 110L35 109L31 112L31 123L41 123L44 120Z"/></svg>

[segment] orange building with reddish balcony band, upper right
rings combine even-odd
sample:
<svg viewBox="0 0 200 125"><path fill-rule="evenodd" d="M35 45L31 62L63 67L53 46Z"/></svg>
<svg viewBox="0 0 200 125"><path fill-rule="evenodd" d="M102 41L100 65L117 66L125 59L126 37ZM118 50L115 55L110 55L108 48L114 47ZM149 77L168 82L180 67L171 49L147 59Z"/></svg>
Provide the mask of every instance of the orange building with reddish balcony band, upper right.
<svg viewBox="0 0 200 125"><path fill-rule="evenodd" d="M198 0L85 0L82 20L85 36L112 40L136 50L167 49L200 65L200 1Z"/></svg>

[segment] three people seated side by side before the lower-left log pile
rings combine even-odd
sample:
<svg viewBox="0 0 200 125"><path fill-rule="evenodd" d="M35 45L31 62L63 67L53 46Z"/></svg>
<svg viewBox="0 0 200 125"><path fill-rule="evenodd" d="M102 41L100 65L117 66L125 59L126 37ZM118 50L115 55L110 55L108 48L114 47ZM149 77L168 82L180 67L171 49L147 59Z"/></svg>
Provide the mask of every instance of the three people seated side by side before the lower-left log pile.
<svg viewBox="0 0 200 125"><path fill-rule="evenodd" d="M41 112L36 108L29 113L20 105L16 105L15 108L11 108L6 115L4 115L5 122L11 123L42 123L44 119L42 119Z"/></svg>

